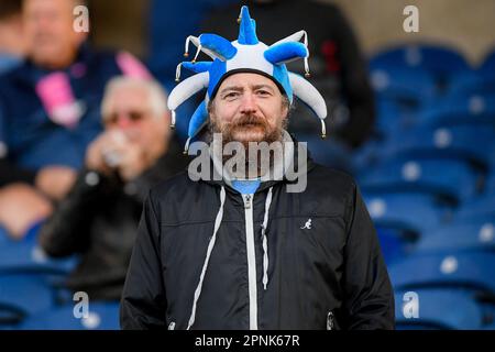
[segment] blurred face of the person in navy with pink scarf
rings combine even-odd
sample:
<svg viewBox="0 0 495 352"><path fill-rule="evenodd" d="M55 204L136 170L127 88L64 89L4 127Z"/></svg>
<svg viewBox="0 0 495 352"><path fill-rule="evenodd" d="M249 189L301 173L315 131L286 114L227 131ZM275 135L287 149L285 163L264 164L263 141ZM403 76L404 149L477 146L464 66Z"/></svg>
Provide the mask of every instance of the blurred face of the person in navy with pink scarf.
<svg viewBox="0 0 495 352"><path fill-rule="evenodd" d="M72 64L86 34L73 29L73 0L26 0L23 9L29 56L40 66Z"/></svg>

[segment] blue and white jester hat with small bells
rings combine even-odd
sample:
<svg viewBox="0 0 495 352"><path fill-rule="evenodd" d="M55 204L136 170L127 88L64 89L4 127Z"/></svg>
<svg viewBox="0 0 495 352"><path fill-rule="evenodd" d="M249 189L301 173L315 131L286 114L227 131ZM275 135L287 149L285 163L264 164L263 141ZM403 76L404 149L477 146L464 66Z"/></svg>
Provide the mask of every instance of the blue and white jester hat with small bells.
<svg viewBox="0 0 495 352"><path fill-rule="evenodd" d="M287 70L286 63L302 58L305 61L306 77L309 77L308 41L305 31L289 35L271 46L260 42L256 36L256 24L251 19L248 7L242 7L238 20L240 23L239 37L234 42L217 35L201 34L188 36L184 56L188 56L189 43L197 46L195 58L191 62L178 64L176 81L180 80L180 68L185 67L196 75L178 84L168 96L168 109L172 111L172 127L175 127L176 109L195 94L207 89L205 100L194 112L188 129L186 152L189 142L207 124L207 106L210 98L215 98L220 84L228 76L240 72L252 72L271 78L285 94L290 103L294 96L305 102L321 121L321 136L327 134L324 119L327 106L320 92L304 77ZM304 38L304 43L300 40ZM210 56L212 62L196 62L199 53Z"/></svg>

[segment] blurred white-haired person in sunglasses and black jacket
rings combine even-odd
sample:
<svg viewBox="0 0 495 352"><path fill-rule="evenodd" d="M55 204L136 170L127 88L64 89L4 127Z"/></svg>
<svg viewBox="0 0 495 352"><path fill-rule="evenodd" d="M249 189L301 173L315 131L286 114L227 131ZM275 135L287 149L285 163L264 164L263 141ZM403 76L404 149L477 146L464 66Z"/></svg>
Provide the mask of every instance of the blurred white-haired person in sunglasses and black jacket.
<svg viewBox="0 0 495 352"><path fill-rule="evenodd" d="M102 132L86 166L40 232L55 257L81 253L67 288L91 299L119 299L143 199L152 186L187 165L173 136L166 97L155 81L119 77L102 102Z"/></svg>

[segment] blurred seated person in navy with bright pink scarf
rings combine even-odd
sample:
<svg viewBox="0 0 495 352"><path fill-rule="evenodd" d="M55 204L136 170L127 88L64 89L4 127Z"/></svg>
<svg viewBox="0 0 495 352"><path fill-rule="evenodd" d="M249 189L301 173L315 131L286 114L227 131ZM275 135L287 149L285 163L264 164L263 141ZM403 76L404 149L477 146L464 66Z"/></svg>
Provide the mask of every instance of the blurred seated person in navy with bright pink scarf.
<svg viewBox="0 0 495 352"><path fill-rule="evenodd" d="M3 1L2 1L3 3ZM98 53L74 29L80 0L24 0L28 58L0 80L0 226L23 238L48 216L101 132L108 80L145 76L130 54Z"/></svg>

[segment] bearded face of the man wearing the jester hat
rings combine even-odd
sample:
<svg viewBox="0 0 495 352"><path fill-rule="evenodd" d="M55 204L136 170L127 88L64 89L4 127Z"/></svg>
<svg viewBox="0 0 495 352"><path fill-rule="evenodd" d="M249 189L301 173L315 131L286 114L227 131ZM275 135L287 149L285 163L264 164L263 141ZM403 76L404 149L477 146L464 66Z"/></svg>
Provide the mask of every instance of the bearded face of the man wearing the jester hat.
<svg viewBox="0 0 495 352"><path fill-rule="evenodd" d="M224 143L272 143L282 140L288 107L275 82L257 74L234 74L220 85L210 121Z"/></svg>

